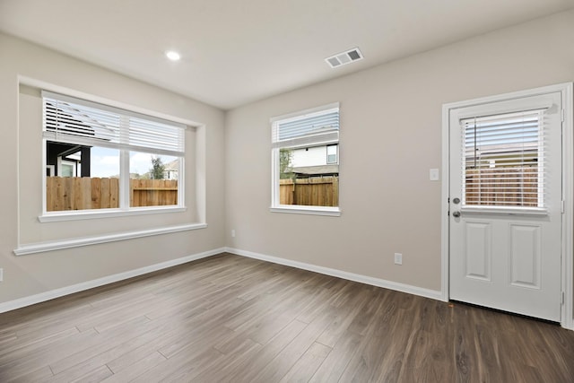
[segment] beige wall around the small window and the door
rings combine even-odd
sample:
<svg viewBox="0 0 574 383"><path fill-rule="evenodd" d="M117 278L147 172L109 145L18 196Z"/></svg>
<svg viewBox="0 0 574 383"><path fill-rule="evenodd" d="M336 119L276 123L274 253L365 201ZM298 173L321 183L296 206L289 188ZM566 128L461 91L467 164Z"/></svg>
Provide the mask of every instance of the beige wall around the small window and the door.
<svg viewBox="0 0 574 383"><path fill-rule="evenodd" d="M570 82L573 43L559 13L231 110L228 246L439 291L442 104ZM336 101L342 215L270 213L269 118Z"/></svg>

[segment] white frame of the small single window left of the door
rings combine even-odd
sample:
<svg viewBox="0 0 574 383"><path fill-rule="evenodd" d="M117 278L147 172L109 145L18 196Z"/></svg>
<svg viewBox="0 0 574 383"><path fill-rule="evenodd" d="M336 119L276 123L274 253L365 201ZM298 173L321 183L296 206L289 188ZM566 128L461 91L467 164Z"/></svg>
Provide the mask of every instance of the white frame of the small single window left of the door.
<svg viewBox="0 0 574 383"><path fill-rule="evenodd" d="M271 213L296 213L296 214L309 214L309 215L327 215L327 216L340 216L341 215L341 208L340 208L340 200L338 201L339 204L337 206L318 206L318 205L281 205L279 200L279 179L280 179L280 151L281 147L277 145L277 141L274 138L275 131L277 125L281 122L285 122L287 120L292 119L302 119L305 116L313 115L313 114L321 114L321 113L328 113L333 109L337 109L337 112L340 113L340 106L339 102L334 102L331 104L319 106L317 108L311 109L304 109L296 112L292 112L286 115L274 117L270 119L271 123L271 134L272 134L272 147L271 147L271 206L269 211ZM338 132L337 132L338 133ZM319 141L305 143L305 144L294 144L292 146L287 146L289 148L301 148L301 147L310 147L310 146L317 146L317 144L324 144L324 145L337 145L337 164L339 163L339 144L340 138L337 134L336 140L329 139L327 141ZM340 174L340 173L339 173Z"/></svg>

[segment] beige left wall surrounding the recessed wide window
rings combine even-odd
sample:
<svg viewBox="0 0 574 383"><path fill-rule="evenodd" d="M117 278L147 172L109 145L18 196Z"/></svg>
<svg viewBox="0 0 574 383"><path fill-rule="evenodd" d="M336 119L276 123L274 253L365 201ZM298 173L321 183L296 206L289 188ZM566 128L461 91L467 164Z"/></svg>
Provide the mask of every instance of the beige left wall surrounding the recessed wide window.
<svg viewBox="0 0 574 383"><path fill-rule="evenodd" d="M224 113L169 91L0 34L0 304L224 246ZM187 212L38 222L41 109L22 78L204 124L187 132ZM197 178L196 178L197 177ZM196 183L197 179L197 183ZM206 206L205 206L206 200ZM16 257L19 245L206 222L206 229Z"/></svg>

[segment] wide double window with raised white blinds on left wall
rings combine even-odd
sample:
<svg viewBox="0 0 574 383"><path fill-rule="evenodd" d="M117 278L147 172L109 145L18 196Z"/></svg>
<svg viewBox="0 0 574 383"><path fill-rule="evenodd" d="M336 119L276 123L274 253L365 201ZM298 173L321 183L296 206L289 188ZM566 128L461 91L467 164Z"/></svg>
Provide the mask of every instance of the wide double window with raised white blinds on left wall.
<svg viewBox="0 0 574 383"><path fill-rule="evenodd" d="M44 213L184 205L185 126L42 91Z"/></svg>

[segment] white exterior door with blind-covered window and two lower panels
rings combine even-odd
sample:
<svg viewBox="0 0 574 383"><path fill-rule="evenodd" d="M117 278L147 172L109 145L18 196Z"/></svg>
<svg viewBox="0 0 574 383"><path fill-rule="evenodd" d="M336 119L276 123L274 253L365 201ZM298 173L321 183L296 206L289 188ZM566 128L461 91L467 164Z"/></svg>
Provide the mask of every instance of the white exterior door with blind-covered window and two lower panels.
<svg viewBox="0 0 574 383"><path fill-rule="evenodd" d="M561 321L561 93L449 113L449 297Z"/></svg>

